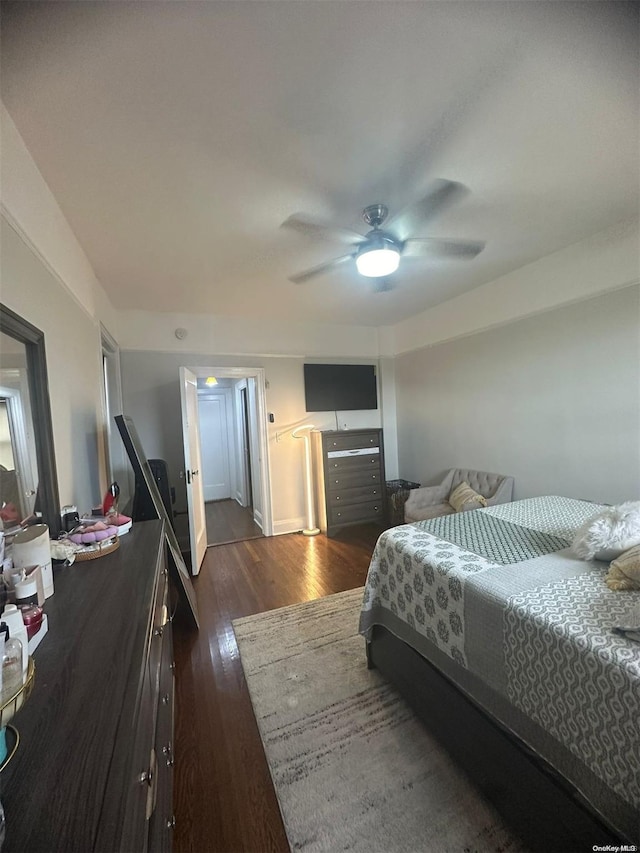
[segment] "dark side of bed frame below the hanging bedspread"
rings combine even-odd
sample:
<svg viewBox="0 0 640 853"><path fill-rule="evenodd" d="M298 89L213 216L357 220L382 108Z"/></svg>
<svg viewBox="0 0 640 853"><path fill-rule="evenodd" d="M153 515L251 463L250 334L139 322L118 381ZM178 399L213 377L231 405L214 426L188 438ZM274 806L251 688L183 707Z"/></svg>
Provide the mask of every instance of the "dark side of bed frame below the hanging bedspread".
<svg viewBox="0 0 640 853"><path fill-rule="evenodd" d="M551 765L394 634L376 625L366 648L368 667L396 687L528 848L578 853L626 844L638 850L591 812Z"/></svg>

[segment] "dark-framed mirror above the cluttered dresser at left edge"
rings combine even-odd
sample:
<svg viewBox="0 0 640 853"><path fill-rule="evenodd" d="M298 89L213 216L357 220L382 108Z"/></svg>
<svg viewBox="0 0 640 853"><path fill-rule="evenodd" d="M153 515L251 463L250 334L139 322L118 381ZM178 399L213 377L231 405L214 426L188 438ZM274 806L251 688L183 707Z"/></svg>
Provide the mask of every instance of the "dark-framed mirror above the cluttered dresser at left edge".
<svg viewBox="0 0 640 853"><path fill-rule="evenodd" d="M60 532L44 333L4 305L0 305L0 507L5 527L39 511L51 538Z"/></svg>

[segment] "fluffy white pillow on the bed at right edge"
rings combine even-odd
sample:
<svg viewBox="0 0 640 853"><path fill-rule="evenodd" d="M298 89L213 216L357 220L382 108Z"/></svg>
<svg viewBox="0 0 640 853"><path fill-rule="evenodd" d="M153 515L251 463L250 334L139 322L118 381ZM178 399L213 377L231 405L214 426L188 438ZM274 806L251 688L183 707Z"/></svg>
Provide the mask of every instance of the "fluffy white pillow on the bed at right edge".
<svg viewBox="0 0 640 853"><path fill-rule="evenodd" d="M626 501L588 518L571 550L581 560L615 560L634 545L640 545L640 501Z"/></svg>

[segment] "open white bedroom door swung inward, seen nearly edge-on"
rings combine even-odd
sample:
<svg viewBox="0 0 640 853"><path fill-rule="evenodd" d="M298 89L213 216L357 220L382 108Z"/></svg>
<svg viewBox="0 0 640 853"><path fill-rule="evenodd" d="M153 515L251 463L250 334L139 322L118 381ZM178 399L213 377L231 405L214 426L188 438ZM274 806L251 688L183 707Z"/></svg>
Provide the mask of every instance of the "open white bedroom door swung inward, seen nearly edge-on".
<svg viewBox="0 0 640 853"><path fill-rule="evenodd" d="M189 511L189 543L191 572L197 575L207 550L207 525L202 490L202 460L198 427L198 382L186 367L180 368L180 402L182 404L182 439L184 442L187 509Z"/></svg>

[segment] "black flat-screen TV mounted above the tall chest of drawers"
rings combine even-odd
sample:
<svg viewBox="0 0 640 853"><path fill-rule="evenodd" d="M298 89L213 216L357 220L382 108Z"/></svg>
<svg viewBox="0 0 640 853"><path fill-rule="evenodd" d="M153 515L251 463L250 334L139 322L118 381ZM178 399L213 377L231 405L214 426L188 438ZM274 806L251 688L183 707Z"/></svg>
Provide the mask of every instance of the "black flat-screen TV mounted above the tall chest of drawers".
<svg viewBox="0 0 640 853"><path fill-rule="evenodd" d="M305 364L307 412L377 409L376 372L372 364Z"/></svg>

